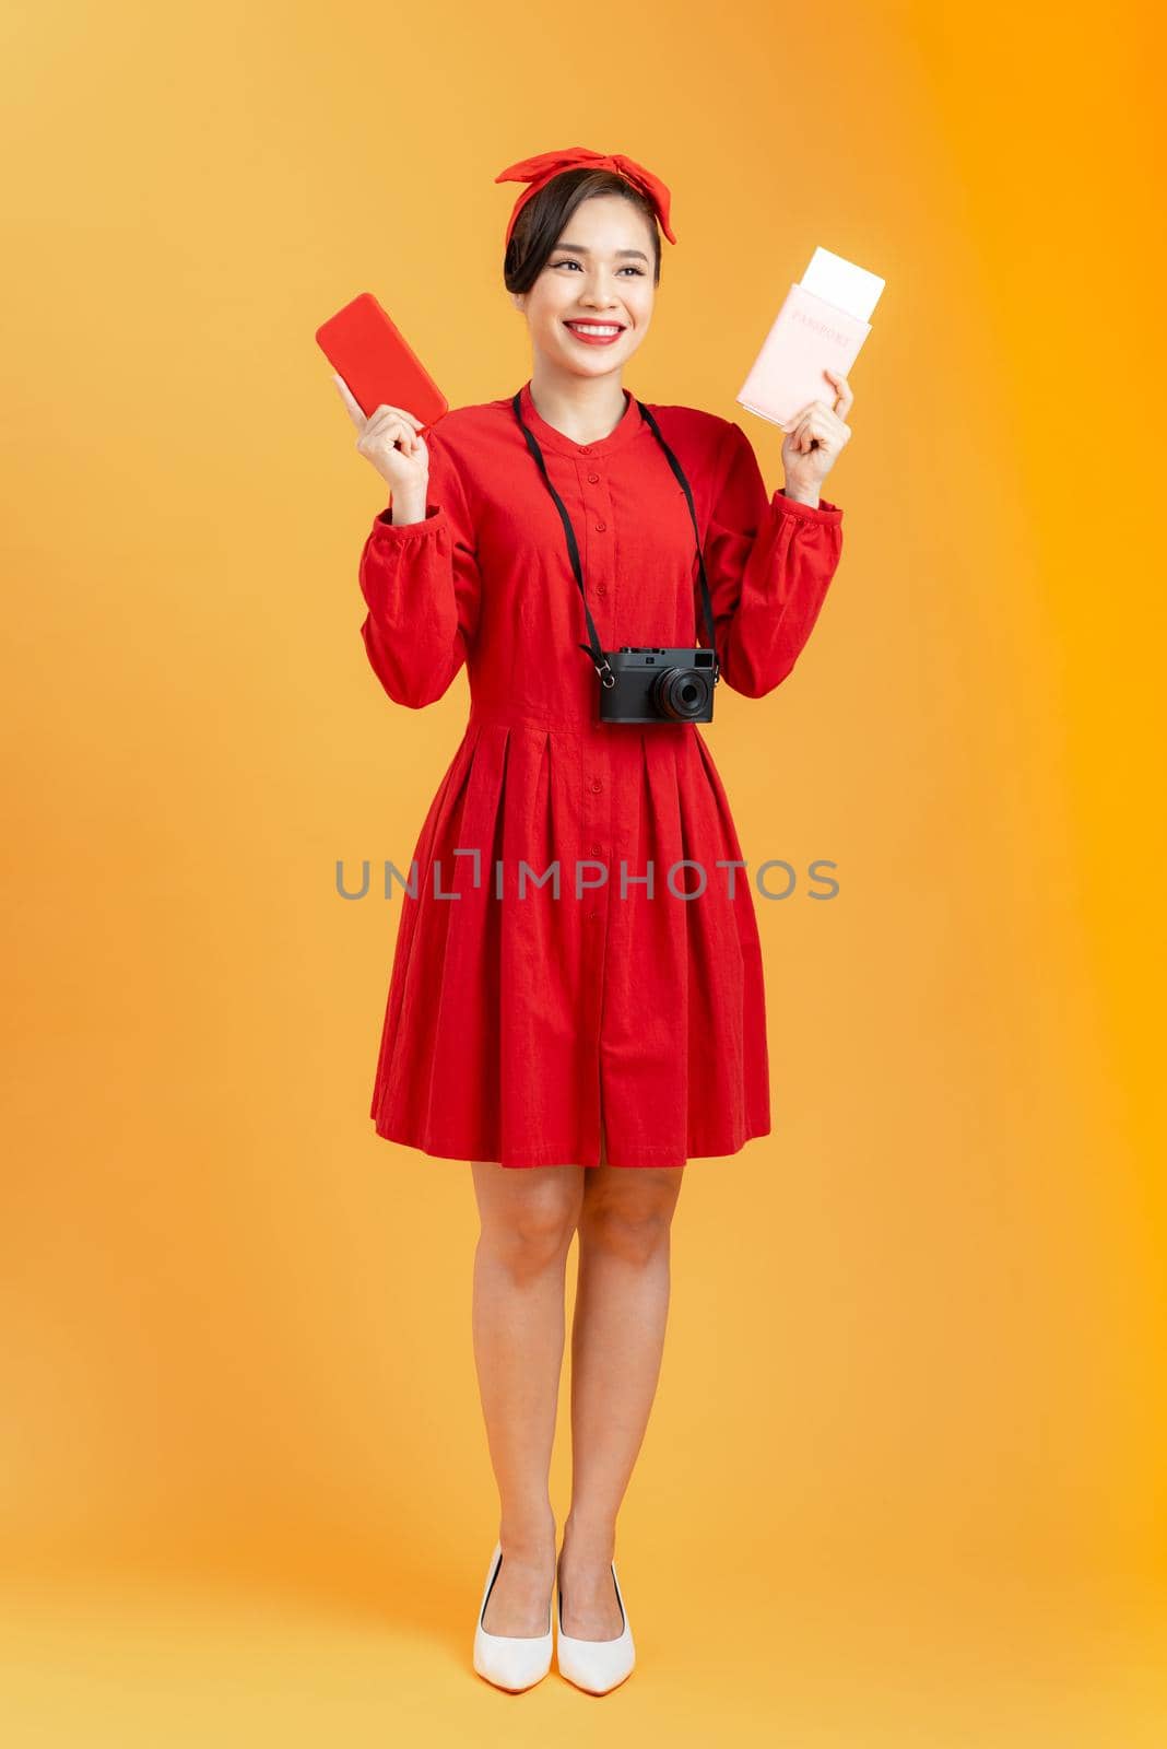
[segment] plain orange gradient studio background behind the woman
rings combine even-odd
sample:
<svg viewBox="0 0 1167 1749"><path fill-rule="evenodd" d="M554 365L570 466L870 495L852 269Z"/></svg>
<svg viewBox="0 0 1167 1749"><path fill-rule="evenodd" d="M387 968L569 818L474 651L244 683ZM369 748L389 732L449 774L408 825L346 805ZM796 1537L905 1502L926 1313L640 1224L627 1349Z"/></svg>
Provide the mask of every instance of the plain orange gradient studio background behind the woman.
<svg viewBox="0 0 1167 1749"><path fill-rule="evenodd" d="M512 394L493 178L578 143L673 189L625 385L737 418L770 490L734 394L788 283L819 243L887 280L819 624L704 731L751 868L840 892L758 899L774 1133L685 1174L603 1728L1160 1744L1151 9L65 3L3 38L9 1740L597 1728L470 1669L470 1170L372 1132L400 892L334 883L407 866L466 680L409 712L367 666L386 493L313 339L369 289L454 406Z"/></svg>

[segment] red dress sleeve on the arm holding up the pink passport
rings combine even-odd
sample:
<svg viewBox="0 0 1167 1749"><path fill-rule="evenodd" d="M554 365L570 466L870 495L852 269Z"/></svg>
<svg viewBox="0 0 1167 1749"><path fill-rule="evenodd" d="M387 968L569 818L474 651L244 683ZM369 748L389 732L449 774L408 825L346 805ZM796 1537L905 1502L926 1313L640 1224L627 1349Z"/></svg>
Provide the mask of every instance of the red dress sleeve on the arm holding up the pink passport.
<svg viewBox="0 0 1167 1749"><path fill-rule="evenodd" d="M819 498L767 497L753 446L730 423L718 451L706 577L722 675L735 693L762 698L798 659L842 553L842 511ZM701 579L694 586L706 640Z"/></svg>

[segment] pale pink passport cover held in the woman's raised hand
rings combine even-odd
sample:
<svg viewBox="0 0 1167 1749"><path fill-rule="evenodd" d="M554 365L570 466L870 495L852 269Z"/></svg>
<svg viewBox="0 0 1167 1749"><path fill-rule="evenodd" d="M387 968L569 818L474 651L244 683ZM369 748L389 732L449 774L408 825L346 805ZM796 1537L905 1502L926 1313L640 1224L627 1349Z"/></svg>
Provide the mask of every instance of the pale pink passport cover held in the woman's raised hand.
<svg viewBox="0 0 1167 1749"><path fill-rule="evenodd" d="M833 408L835 390L823 366L846 376L870 332L870 322L795 283L735 399L783 430L811 401Z"/></svg>

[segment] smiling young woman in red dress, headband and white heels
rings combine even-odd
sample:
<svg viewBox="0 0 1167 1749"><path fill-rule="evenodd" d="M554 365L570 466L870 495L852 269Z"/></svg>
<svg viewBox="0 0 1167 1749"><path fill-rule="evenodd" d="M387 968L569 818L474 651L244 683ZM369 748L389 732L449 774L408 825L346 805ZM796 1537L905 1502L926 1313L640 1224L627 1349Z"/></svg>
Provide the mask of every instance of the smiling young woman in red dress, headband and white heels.
<svg viewBox="0 0 1167 1749"><path fill-rule="evenodd" d="M470 680L402 901L370 1116L377 1135L472 1161L473 1345L501 1501L475 1669L512 1690L547 1672L557 1581L559 1669L606 1693L634 1662L615 1527L660 1368L681 1172L767 1135L770 1107L751 876L692 719L701 684L659 694L657 721L601 719L604 652L715 647L720 680L749 698L786 679L840 556L842 511L819 488L853 397L832 378L833 404L804 409L769 497L739 425L622 387L653 317L659 226L676 241L664 184L584 147L496 180L528 184L503 266L528 383L423 441L409 409L365 418L335 380L391 490L360 560L372 668L414 708L463 663Z"/></svg>

